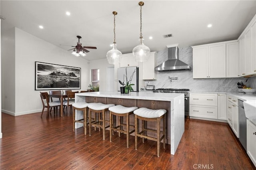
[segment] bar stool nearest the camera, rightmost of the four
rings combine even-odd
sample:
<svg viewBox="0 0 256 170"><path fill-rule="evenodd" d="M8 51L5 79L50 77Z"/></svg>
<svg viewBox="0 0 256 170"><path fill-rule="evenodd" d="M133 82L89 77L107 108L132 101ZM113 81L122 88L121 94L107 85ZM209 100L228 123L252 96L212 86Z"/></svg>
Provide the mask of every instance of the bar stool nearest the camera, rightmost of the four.
<svg viewBox="0 0 256 170"><path fill-rule="evenodd" d="M159 157L160 152L160 142L163 140L163 146L165 148L165 142L166 142L166 110L164 109L158 109L158 110L152 110L145 107L142 107L140 109L137 109L134 111L135 115L135 149L137 150L137 138L142 137L142 142L144 143L144 138L147 138L149 140L157 141L157 156ZM142 131L138 132L139 128L139 121L137 119L142 120ZM160 122L161 119L163 119L163 131L160 130ZM145 121L154 121L156 122L157 130L150 130L145 127ZM145 134L145 131L150 132L156 132L157 137L151 137L147 136ZM160 137L162 133L162 136Z"/></svg>

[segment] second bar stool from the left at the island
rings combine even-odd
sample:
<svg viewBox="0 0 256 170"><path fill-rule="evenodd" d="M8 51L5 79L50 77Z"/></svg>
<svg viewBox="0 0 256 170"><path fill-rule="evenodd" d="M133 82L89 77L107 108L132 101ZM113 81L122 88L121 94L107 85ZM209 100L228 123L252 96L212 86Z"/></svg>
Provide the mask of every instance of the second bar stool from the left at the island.
<svg viewBox="0 0 256 170"><path fill-rule="evenodd" d="M110 127L109 125L106 126L106 122L110 122L110 121L106 121L105 113L106 113L106 111L108 111L108 108L112 107L112 106L114 106L114 104L93 103L91 105L88 105L88 108L89 108L89 135L90 136L92 133L91 126L94 125L95 127L99 127L99 131L100 131L100 128L102 128L103 140L105 140L105 129ZM92 112L95 113L95 121L94 122L92 122ZM98 114L98 119L97 119L96 114Z"/></svg>

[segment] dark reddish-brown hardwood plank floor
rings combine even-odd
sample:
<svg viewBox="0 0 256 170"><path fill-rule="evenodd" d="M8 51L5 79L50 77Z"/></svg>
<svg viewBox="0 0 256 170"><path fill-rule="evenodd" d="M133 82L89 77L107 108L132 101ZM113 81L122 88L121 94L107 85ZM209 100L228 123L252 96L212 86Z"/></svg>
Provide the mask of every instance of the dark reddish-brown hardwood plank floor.
<svg viewBox="0 0 256 170"><path fill-rule="evenodd" d="M88 129L87 129L88 130ZM108 132L108 131L107 131ZM170 145L156 156L156 142L134 136L126 148L126 137L115 133L113 141L102 140L102 131L73 132L72 117L40 113L13 117L2 113L0 169L256 169L237 142L227 123L186 119L185 132L175 155Z"/></svg>

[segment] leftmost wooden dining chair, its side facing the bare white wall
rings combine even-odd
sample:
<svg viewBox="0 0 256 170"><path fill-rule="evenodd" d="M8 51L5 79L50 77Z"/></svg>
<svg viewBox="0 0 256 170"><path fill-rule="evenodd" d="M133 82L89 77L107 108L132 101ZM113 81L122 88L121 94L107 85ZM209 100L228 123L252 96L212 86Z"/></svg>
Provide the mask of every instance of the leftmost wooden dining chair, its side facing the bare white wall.
<svg viewBox="0 0 256 170"><path fill-rule="evenodd" d="M49 95L47 92L40 92L40 97L41 97L42 104L43 104L43 110L41 113L41 117L44 113L44 108L47 108L47 115L46 115L46 119L47 119L49 117L50 109L52 107L60 106L60 102L59 101L50 102L50 98L49 98Z"/></svg>

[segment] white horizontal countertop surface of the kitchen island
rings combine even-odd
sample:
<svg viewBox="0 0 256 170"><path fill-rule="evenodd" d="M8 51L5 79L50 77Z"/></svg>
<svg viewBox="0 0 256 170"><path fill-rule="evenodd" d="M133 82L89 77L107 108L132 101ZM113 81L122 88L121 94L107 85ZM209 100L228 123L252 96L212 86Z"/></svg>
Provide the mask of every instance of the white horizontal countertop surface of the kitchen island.
<svg viewBox="0 0 256 170"><path fill-rule="evenodd" d="M76 93L79 96L97 96L97 97L112 97L112 98L124 98L124 99L144 99L144 100L159 100L159 101L171 101L176 97L180 97L184 93L152 93L152 92L131 92L129 94L121 94L120 92L86 92Z"/></svg>

